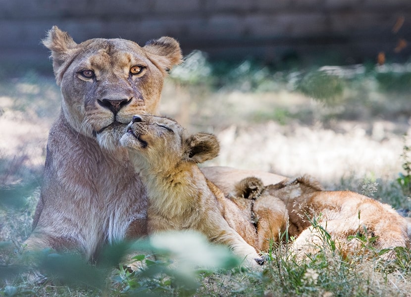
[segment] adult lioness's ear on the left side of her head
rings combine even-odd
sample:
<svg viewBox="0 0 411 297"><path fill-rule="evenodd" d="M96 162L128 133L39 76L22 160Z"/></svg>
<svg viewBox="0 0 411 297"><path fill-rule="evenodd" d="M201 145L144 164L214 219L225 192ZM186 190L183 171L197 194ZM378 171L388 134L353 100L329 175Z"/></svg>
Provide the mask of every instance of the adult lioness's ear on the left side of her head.
<svg viewBox="0 0 411 297"><path fill-rule="evenodd" d="M46 48L51 50L53 70L57 79L57 84L59 84L58 70L73 50L77 48L77 44L67 32L61 31L57 26L51 28L42 42Z"/></svg>

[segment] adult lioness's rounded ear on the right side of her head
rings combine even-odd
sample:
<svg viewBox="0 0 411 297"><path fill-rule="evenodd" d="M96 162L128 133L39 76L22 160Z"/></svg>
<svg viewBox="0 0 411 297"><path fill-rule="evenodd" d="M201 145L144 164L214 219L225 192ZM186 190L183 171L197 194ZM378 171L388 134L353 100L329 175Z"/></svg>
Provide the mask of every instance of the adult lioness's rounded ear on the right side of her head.
<svg viewBox="0 0 411 297"><path fill-rule="evenodd" d="M150 40L143 49L153 55L149 55L149 59L164 73L180 64L183 57L179 43L171 37Z"/></svg>

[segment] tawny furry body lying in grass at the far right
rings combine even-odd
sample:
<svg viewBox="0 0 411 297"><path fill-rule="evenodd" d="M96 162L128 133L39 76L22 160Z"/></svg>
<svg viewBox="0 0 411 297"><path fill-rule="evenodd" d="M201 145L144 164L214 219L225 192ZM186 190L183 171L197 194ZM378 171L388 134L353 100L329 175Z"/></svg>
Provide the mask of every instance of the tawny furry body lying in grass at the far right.
<svg viewBox="0 0 411 297"><path fill-rule="evenodd" d="M318 250L326 230L343 256L360 249L360 241L350 236L368 238L378 250L407 247L407 221L390 205L351 191L324 191L309 176L264 187L261 195L280 198L289 213L290 236L296 236L294 250L301 257ZM316 220L316 222L314 222ZM312 227L312 223L317 225ZM393 252L383 255L389 258Z"/></svg>

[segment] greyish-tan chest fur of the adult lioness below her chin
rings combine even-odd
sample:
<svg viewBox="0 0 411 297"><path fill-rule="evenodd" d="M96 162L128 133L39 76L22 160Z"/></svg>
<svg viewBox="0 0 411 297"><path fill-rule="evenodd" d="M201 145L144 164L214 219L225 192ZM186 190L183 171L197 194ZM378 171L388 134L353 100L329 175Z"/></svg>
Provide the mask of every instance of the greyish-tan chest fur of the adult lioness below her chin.
<svg viewBox="0 0 411 297"><path fill-rule="evenodd" d="M50 242L51 247L76 246L90 257L104 242L124 239L133 221L145 221L144 186L127 151L101 149L75 133L62 116L51 129L46 168L41 199L47 198L47 204L37 207L33 227L52 238L66 235ZM145 229L141 222L143 234Z"/></svg>

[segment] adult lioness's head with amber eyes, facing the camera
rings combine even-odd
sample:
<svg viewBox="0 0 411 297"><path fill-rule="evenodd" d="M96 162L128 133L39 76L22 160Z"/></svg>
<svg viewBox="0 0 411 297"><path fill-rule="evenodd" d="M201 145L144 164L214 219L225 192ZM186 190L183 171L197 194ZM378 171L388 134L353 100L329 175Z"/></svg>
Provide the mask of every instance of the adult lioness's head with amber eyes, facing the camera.
<svg viewBox="0 0 411 297"><path fill-rule="evenodd" d="M51 49L68 123L106 149L117 147L134 114L157 112L164 77L182 57L170 37L144 47L123 39L77 44L56 26L43 44Z"/></svg>

